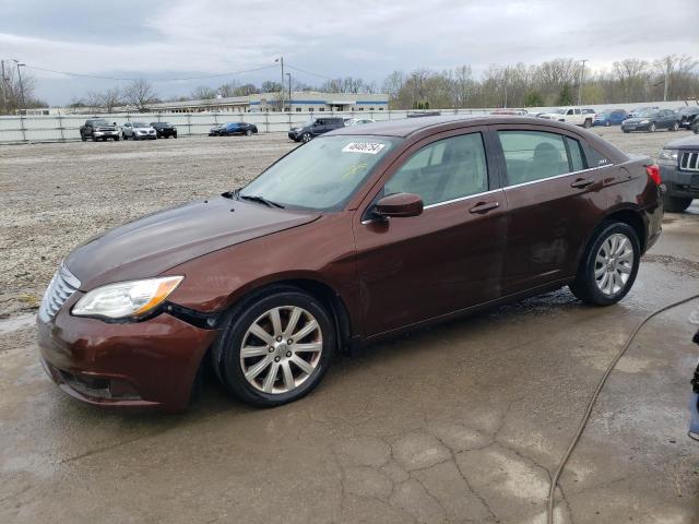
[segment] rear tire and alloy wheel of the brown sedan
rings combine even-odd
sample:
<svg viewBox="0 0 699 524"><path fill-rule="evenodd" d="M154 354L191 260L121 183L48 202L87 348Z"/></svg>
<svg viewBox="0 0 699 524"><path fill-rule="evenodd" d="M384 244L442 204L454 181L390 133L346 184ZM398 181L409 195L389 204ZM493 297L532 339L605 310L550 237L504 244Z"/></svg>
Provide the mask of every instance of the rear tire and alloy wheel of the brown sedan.
<svg viewBox="0 0 699 524"><path fill-rule="evenodd" d="M585 303L616 303L633 286L640 259L641 247L636 230L623 222L604 222L585 250L570 290Z"/></svg>

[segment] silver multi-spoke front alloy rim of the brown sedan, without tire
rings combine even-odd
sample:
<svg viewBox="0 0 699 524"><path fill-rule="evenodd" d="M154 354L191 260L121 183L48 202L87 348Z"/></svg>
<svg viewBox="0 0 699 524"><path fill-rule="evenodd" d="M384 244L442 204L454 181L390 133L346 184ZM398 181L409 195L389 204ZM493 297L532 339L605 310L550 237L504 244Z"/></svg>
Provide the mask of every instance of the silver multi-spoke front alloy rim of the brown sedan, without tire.
<svg viewBox="0 0 699 524"><path fill-rule="evenodd" d="M265 311L248 327L240 346L240 368L258 391L288 393L313 373L322 350L318 320L298 306L282 306Z"/></svg>

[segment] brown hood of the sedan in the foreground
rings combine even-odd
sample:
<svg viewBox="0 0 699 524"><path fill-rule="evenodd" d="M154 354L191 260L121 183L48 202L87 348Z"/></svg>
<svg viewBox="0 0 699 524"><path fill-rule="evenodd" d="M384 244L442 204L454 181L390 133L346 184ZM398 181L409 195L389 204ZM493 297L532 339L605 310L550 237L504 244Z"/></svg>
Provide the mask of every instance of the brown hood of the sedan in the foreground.
<svg viewBox="0 0 699 524"><path fill-rule="evenodd" d="M146 215L75 248L66 266L82 290L156 276L203 254L297 227L320 213L286 211L223 196Z"/></svg>

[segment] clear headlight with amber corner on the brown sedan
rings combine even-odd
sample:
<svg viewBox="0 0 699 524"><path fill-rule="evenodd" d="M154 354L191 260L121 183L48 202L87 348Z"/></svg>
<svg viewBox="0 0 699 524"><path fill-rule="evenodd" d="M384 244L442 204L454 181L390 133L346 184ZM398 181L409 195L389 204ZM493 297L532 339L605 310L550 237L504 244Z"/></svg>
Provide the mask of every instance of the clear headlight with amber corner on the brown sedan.
<svg viewBox="0 0 699 524"><path fill-rule="evenodd" d="M183 276L163 276L107 284L93 289L78 300L72 313L76 317L108 319L139 317L162 303L183 278Z"/></svg>

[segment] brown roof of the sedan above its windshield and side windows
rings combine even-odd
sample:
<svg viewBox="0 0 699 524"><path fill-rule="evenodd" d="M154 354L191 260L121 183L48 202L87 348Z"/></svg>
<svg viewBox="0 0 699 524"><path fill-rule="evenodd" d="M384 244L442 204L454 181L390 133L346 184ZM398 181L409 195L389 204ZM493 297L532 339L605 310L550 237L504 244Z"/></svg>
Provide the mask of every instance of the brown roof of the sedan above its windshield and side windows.
<svg viewBox="0 0 699 524"><path fill-rule="evenodd" d="M525 126L546 126L557 127L560 129L570 129L570 124L556 122L554 120L535 119L526 116L511 116L511 115L487 115L487 116L469 116L469 115L449 115L439 117L419 117L419 118L403 118L400 120L384 120L375 123L367 123L365 126L352 126L348 128L335 129L327 135L339 134L370 134L381 136L400 136L406 138L413 133L419 131L436 128L436 131L440 127L448 128L449 124L454 123L469 123L472 126L490 126L501 123L521 123Z"/></svg>

